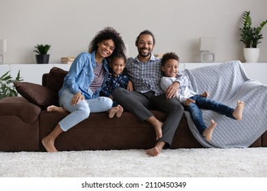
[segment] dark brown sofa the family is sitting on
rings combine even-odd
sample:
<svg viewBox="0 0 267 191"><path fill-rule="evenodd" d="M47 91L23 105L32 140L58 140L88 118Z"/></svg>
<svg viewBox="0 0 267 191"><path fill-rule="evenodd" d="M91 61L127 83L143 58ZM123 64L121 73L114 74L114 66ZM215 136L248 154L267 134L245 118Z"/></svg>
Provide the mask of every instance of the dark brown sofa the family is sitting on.
<svg viewBox="0 0 267 191"><path fill-rule="evenodd" d="M57 104L58 90L66 71L52 68L42 76L42 85L15 83L23 97L0 100L0 151L45 151L41 140L68 113L48 113L45 108ZM152 111L164 121L166 115ZM91 113L88 119L58 136L59 151L149 149L155 145L155 131L147 122L140 122L125 111L120 118L110 119L107 113ZM266 147L267 133L251 147ZM188 128L183 115L170 149L203 147Z"/></svg>

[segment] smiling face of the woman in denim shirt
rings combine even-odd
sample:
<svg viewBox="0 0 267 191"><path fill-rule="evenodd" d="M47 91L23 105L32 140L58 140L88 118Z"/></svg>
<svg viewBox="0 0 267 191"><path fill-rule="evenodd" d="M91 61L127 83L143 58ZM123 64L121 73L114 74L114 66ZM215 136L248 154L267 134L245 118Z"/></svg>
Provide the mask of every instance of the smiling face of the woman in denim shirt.
<svg viewBox="0 0 267 191"><path fill-rule="evenodd" d="M97 48L97 54L102 57L109 57L112 55L113 50L115 49L115 44L113 40L103 40L97 44L99 48Z"/></svg>

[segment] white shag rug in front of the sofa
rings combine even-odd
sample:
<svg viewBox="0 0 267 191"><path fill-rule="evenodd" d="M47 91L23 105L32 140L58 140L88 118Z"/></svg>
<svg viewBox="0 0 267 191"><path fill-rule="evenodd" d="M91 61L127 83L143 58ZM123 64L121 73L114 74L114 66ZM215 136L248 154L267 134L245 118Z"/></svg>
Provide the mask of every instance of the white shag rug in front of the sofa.
<svg viewBox="0 0 267 191"><path fill-rule="evenodd" d="M267 177L267 147L0 152L0 177Z"/></svg>

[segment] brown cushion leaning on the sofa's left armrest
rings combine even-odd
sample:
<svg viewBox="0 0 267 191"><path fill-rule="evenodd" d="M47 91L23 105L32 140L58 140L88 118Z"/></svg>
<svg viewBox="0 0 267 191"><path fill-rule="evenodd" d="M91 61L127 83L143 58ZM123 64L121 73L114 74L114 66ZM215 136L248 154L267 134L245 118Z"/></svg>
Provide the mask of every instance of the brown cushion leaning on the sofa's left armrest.
<svg viewBox="0 0 267 191"><path fill-rule="evenodd" d="M27 82L14 82L14 86L16 87L16 91L18 91L23 98L38 106L44 107L58 102L58 100L55 99L53 91L42 85Z"/></svg>

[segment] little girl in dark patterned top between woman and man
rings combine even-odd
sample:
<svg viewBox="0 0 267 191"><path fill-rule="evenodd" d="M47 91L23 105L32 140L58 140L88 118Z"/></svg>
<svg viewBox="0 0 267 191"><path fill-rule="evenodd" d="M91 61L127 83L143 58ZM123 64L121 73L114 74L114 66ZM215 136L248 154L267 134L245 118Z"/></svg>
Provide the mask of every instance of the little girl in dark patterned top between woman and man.
<svg viewBox="0 0 267 191"><path fill-rule="evenodd" d="M110 68L112 71L110 72L107 81L101 90L101 95L114 100L112 97L112 92L116 87L123 87L125 89L127 88L129 77L123 73L125 63L126 56L124 53L118 53L112 56L110 59ZM110 108L108 113L110 118L113 118L114 115L116 115L116 117L120 117L123 113L123 107L114 101L112 108Z"/></svg>

